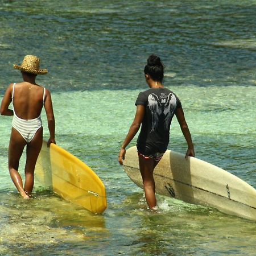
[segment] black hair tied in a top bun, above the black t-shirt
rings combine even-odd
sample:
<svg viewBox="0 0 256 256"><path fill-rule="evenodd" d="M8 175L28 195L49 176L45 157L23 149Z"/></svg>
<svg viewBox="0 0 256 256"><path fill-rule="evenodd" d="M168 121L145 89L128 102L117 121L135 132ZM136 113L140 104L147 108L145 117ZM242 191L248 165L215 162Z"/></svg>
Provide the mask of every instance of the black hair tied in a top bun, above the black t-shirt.
<svg viewBox="0 0 256 256"><path fill-rule="evenodd" d="M151 76L154 81L163 81L164 67L160 58L156 55L150 55L147 59L147 65L144 67L144 74Z"/></svg>

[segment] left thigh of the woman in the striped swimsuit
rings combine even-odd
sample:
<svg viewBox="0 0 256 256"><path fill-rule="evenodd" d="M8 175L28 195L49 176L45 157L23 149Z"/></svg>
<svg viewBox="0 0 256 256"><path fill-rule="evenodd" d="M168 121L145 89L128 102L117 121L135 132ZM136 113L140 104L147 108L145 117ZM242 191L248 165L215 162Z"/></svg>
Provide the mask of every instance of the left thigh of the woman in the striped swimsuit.
<svg viewBox="0 0 256 256"><path fill-rule="evenodd" d="M19 159L24 150L24 146L26 146L26 141L16 129L12 128L8 152L9 168L11 167L18 170Z"/></svg>

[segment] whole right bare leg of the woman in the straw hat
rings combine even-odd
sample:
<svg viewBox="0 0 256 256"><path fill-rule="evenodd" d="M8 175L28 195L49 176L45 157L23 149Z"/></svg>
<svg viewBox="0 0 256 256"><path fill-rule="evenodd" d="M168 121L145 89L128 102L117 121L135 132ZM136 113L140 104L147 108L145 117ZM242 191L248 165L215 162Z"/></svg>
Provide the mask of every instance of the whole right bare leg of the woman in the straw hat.
<svg viewBox="0 0 256 256"><path fill-rule="evenodd" d="M43 127L41 127L35 134L30 143L27 144L27 159L25 166L25 184L24 191L31 195L34 187L34 172L36 160L42 148L43 143Z"/></svg>

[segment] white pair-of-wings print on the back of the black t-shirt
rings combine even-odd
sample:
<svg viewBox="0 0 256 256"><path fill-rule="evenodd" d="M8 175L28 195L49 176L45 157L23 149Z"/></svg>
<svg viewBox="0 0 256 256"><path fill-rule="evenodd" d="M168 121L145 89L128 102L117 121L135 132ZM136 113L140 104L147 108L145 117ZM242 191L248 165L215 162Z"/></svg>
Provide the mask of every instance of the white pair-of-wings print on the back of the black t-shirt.
<svg viewBox="0 0 256 256"><path fill-rule="evenodd" d="M176 97L173 93L164 94L158 96L155 93L148 95L148 107L152 115L152 128L151 131L155 131L159 123L160 115L164 115L164 129L168 129L168 125L174 115L176 109Z"/></svg>

